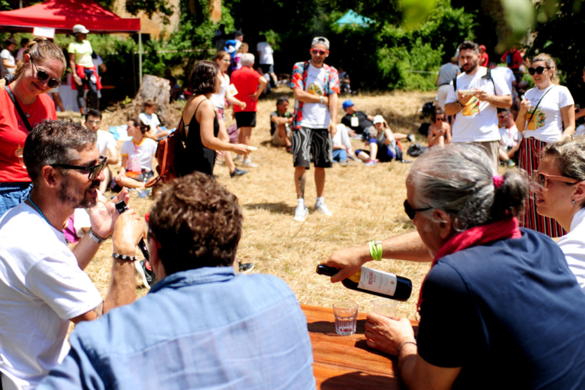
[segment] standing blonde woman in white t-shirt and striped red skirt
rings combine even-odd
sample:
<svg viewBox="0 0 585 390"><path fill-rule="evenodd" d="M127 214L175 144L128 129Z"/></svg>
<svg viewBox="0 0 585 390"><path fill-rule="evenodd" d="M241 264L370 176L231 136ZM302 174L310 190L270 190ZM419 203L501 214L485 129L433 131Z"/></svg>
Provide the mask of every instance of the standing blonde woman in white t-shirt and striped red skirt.
<svg viewBox="0 0 585 390"><path fill-rule="evenodd" d="M549 143L575 132L573 96L569 89L559 85L556 63L548 54L534 57L528 73L535 87L526 91L520 105L516 127L524 132L519 150L519 167L528 175L536 170L542 149ZM529 196L521 225L550 237L560 237L565 231L552 218L536 213L534 196Z"/></svg>

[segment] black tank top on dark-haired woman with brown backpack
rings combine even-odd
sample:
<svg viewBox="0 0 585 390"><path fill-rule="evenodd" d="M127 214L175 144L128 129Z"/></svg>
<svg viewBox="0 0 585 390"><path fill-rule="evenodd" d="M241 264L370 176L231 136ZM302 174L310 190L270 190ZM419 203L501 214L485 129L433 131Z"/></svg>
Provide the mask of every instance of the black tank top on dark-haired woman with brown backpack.
<svg viewBox="0 0 585 390"><path fill-rule="evenodd" d="M215 164L215 150L203 146L201 142L201 127L197 122L197 110L199 105L195 108L195 112L191 117L191 122L188 125L187 139L185 141L185 149L181 156L180 172L181 176L188 175L193 171L199 171L212 175L214 173ZM187 126L185 126L187 127ZM214 136L217 137L219 133L219 122L217 115L214 116Z"/></svg>

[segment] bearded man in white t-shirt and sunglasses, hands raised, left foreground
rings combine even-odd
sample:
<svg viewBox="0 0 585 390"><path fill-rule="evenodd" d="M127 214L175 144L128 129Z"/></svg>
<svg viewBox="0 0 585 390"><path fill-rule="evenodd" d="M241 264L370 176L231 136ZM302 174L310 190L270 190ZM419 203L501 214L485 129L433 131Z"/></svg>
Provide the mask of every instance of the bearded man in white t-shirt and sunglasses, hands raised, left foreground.
<svg viewBox="0 0 585 390"><path fill-rule="evenodd" d="M96 135L78 123L47 120L27 136L23 158L33 189L0 219L0 372L4 389L35 388L67 354L70 322L92 320L135 299L136 244L145 236L133 210L98 198L105 157ZM91 229L70 250L63 228L89 208ZM112 236L113 234L113 236ZM105 299L83 269L107 237L113 241Z"/></svg>

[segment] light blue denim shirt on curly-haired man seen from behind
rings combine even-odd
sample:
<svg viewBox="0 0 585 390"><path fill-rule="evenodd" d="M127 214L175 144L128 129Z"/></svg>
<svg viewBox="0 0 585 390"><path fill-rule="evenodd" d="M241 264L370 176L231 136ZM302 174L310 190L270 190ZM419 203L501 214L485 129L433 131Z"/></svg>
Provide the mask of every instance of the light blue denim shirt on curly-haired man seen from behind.
<svg viewBox="0 0 585 390"><path fill-rule="evenodd" d="M307 319L288 285L232 267L177 272L80 323L38 389L314 389Z"/></svg>

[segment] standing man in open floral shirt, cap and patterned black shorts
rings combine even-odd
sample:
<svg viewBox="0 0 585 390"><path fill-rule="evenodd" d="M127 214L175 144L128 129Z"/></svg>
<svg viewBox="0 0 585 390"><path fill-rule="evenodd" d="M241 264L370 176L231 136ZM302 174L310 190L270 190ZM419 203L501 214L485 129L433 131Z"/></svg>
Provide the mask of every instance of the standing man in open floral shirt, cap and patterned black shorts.
<svg viewBox="0 0 585 390"><path fill-rule="evenodd" d="M295 113L292 122L292 149L294 181L298 205L294 220L304 221L309 210L305 206L305 171L309 169L311 154L315 165L317 199L315 210L331 215L325 204L325 168L333 165L333 143L336 132L339 76L335 68L325 64L329 56L329 40L315 37L311 43L311 61L292 67L292 91Z"/></svg>

